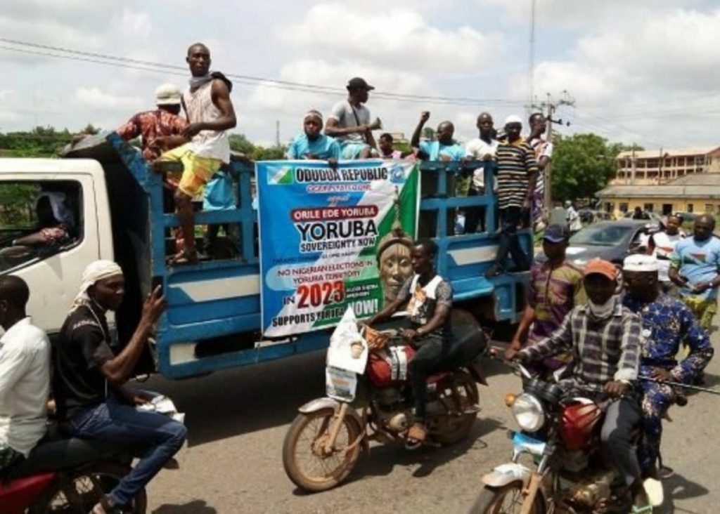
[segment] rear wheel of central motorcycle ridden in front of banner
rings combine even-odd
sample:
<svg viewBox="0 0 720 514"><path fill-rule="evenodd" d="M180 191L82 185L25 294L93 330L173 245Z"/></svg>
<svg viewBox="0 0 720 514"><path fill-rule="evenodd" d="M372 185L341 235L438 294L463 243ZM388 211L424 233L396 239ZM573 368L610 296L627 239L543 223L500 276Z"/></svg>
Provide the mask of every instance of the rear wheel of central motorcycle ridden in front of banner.
<svg viewBox="0 0 720 514"><path fill-rule="evenodd" d="M475 408L480 403L477 383L467 372L454 372L448 380L438 384L440 403L450 413L437 417L437 425L433 430L433 439L440 444L455 444L462 441L472 430L477 413L459 414L468 408Z"/></svg>

